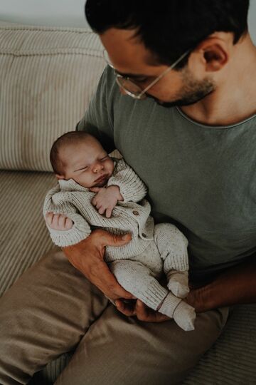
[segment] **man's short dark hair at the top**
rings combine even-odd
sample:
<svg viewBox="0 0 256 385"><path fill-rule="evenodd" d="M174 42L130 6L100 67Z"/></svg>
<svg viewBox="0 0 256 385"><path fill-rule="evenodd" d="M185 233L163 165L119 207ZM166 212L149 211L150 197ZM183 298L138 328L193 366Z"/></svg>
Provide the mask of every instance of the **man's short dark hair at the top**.
<svg viewBox="0 0 256 385"><path fill-rule="evenodd" d="M85 15L97 34L137 29L156 64L171 65L216 31L233 32L237 43L247 31L248 8L249 0L87 0Z"/></svg>

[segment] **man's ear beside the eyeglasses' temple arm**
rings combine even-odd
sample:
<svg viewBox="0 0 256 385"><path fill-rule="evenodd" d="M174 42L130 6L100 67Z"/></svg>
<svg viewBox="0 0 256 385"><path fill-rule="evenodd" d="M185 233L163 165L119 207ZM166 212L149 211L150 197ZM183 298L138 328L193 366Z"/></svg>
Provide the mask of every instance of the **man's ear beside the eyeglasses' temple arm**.
<svg viewBox="0 0 256 385"><path fill-rule="evenodd" d="M196 51L202 55L206 72L220 71L230 58L230 41L209 36L198 45Z"/></svg>

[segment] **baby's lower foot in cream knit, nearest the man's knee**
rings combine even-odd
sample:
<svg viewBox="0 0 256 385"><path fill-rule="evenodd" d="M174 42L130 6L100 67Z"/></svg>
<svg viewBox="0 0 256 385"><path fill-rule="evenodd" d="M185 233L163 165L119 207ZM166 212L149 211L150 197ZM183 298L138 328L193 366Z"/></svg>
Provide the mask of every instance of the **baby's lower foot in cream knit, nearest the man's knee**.
<svg viewBox="0 0 256 385"><path fill-rule="evenodd" d="M171 292L165 297L159 308L159 312L174 318L176 324L183 330L193 330L196 312L193 307L184 302L181 298L175 297Z"/></svg>

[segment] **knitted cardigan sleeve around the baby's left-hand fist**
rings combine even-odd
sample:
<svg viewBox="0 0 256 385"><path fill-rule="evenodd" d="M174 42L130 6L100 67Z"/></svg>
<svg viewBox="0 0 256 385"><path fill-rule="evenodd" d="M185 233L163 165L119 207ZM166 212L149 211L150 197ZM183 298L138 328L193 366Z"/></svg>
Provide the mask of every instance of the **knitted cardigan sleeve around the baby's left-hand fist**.
<svg viewBox="0 0 256 385"><path fill-rule="evenodd" d="M46 219L47 212L54 212L55 214L64 214L73 220L73 227L70 230L54 230L50 226L46 226L50 232L50 237L55 245L66 247L75 245L75 243L85 240L90 235L91 229L82 215L78 212L76 207L71 203L60 199L55 199L56 195L63 195L58 188L51 189L47 195L43 205L43 217Z"/></svg>

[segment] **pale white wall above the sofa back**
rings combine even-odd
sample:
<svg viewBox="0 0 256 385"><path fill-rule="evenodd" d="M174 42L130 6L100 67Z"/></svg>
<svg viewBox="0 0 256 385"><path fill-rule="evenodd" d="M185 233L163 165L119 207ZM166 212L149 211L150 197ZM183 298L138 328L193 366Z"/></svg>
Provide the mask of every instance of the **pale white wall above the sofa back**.
<svg viewBox="0 0 256 385"><path fill-rule="evenodd" d="M84 16L85 0L0 1L0 19L4 21L48 26L87 26ZM250 0L249 29L256 44L256 0Z"/></svg>

